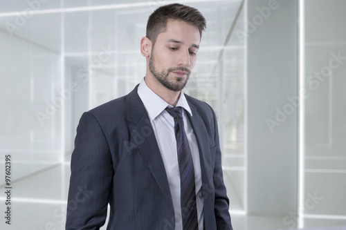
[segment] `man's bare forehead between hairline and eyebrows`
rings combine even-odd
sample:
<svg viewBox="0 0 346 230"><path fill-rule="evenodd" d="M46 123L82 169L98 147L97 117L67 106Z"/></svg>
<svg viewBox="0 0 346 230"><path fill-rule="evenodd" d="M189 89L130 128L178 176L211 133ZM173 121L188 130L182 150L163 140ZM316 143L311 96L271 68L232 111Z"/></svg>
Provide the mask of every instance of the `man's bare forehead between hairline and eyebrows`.
<svg viewBox="0 0 346 230"><path fill-rule="evenodd" d="M158 35L156 41L165 42L172 39L182 41L189 46L192 44L199 45L201 35L197 26L192 26L185 21L169 19L166 30Z"/></svg>

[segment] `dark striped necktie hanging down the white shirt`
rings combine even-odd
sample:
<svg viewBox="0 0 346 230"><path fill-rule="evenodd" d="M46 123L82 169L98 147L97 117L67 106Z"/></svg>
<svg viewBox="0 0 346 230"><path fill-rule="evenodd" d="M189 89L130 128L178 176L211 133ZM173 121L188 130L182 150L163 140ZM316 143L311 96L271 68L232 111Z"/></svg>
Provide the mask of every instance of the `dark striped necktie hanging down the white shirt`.
<svg viewBox="0 0 346 230"><path fill-rule="evenodd" d="M178 152L178 163L180 171L181 189L181 218L183 219L183 230L197 230L197 205L196 189L194 184L194 164L191 150L184 130L183 115L181 107L165 109L174 117L174 133L176 137L176 149Z"/></svg>

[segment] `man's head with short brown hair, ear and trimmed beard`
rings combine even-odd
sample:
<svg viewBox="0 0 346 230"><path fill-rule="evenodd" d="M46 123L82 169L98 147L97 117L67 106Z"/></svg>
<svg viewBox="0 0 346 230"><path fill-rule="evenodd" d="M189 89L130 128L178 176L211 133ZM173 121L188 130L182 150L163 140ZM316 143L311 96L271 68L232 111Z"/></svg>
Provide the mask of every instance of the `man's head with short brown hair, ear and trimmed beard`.
<svg viewBox="0 0 346 230"><path fill-rule="evenodd" d="M179 92L185 87L205 28L201 12L178 3L161 6L150 15L140 52L147 57L145 80L152 90Z"/></svg>

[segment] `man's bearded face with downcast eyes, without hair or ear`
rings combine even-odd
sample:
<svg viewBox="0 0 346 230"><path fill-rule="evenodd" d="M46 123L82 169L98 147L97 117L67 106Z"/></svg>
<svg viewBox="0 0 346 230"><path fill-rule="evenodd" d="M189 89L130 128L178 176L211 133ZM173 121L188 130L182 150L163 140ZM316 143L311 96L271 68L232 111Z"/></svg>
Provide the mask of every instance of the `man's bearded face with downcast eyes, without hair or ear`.
<svg viewBox="0 0 346 230"><path fill-rule="evenodd" d="M167 21L166 31L158 35L149 58L152 75L165 88L182 90L196 64L200 40L197 27L183 21Z"/></svg>

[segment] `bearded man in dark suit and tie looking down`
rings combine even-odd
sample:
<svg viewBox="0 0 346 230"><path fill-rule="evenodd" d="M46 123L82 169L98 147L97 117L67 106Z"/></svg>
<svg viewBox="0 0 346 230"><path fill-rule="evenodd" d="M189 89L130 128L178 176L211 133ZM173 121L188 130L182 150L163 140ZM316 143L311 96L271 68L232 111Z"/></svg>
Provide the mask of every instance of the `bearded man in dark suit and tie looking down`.
<svg viewBox="0 0 346 230"><path fill-rule="evenodd" d="M181 93L206 20L178 3L149 17L147 73L80 119L66 229L232 229L212 108Z"/></svg>

